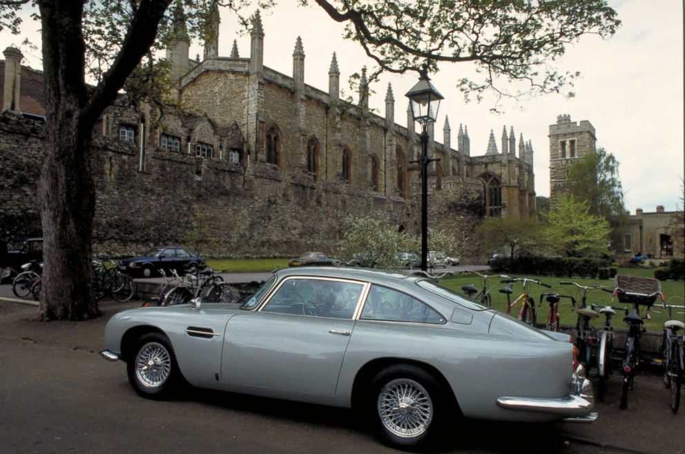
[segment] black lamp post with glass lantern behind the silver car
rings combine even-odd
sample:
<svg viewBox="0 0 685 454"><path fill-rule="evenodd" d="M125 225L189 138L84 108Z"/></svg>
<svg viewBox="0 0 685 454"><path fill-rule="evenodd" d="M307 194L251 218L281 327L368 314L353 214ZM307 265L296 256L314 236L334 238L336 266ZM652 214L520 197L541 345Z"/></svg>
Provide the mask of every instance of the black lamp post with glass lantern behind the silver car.
<svg viewBox="0 0 685 454"><path fill-rule="evenodd" d="M421 124L421 271L428 270L428 164L439 159L428 159L428 124L435 123L443 95L428 78L428 65L423 64L418 83L405 95L409 98L414 121ZM408 127L409 125L407 125Z"/></svg>

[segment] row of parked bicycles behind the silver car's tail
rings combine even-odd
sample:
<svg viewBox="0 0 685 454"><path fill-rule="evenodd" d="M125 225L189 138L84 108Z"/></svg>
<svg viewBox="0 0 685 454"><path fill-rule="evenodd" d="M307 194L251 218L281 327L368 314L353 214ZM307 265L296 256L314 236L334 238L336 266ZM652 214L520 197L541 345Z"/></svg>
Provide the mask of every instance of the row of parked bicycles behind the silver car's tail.
<svg viewBox="0 0 685 454"><path fill-rule="evenodd" d="M567 288L552 290L552 286L537 279L527 277L510 277L507 275L485 275L476 271L465 270L459 273L443 273L432 276L441 279L447 275L473 273L481 279L481 288L477 289L474 284L467 284L461 290L467 297L483 304L492 306L490 292L496 283L505 284L499 288L499 293L507 299L506 312L515 315L521 322L545 328L546 330L559 330L559 305L563 300L570 302L571 310L577 314L575 328L572 329L572 340L577 348L577 360L585 366L588 372L595 373L597 377L597 397L604 401L608 379L617 369L617 375L621 375L621 400L619 408L628 407L628 395L635 384L635 375L644 366L641 360L640 339L645 333L644 318L649 318L657 298L661 300L661 306L666 310L668 319L664 323L662 339L662 355L655 358L655 363L662 364L664 384L670 389L670 406L673 413L677 413L684 385L684 357L683 343L685 324L673 319L674 310L676 315L682 315L685 308L682 304L670 304L682 297L671 297L666 301L661 283L657 279L637 276L615 277L614 286L607 287L597 284L585 285L572 281L561 281L559 286ZM521 294L513 301L513 286L521 283ZM539 323L535 300L532 295L533 284L545 288L541 290L538 306L546 302L549 306L545 323ZM571 290L571 291L568 291ZM588 304L588 295L592 292L604 291L608 296L606 304ZM626 306L617 306L624 304ZM615 332L612 319L615 315L624 315L628 332L623 348L614 345ZM604 317L604 324L600 327L593 326L592 319ZM616 348L615 348L616 347Z"/></svg>

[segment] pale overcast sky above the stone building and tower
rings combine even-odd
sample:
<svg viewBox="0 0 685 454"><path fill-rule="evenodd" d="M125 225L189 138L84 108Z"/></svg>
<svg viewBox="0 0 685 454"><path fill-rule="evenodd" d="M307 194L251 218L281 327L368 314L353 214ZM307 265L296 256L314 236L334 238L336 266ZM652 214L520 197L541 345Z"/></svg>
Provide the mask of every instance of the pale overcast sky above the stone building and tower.
<svg viewBox="0 0 685 454"><path fill-rule="evenodd" d="M305 49L305 82L328 90L328 70L336 52L340 68L340 86L349 92L347 77L363 65L372 66L355 43L341 37L343 27L328 18L318 6L301 8L294 0L281 0L281 5L262 13L264 28L264 65L292 75L295 41L302 37ZM436 88L445 97L438 112L436 139L443 141L445 115L452 126L452 148L456 148L459 124L468 127L471 155L484 155L490 130L494 130L498 148L502 127L511 126L517 141L520 134L532 141L534 150L535 189L537 195L550 193L549 126L557 115L568 114L571 121L588 120L595 126L597 146L604 147L619 160L619 173L624 187L626 207L654 211L657 205L666 210L682 208L681 177L684 175L683 118L683 2L610 1L622 21L614 37L584 37L568 48L557 61L560 70L580 71L575 97L542 95L504 104L504 112L493 114L494 98L481 103L465 103L456 89L456 80L472 74L467 63L441 66L432 75ZM24 30L35 23L26 22ZM37 28L37 26L35 27ZM233 17L222 12L219 55L231 53L233 39L238 39L240 57L249 57L249 36L240 34ZM17 45L21 39L0 32L0 47ZM39 40L35 40L39 43ZM26 55L26 63L40 68L39 55ZM191 47L191 56L202 55L200 43ZM372 86L369 104L379 115L385 115L385 92L392 83L396 122L407 123L405 93L416 83L414 73L382 76ZM501 152L501 149L499 150Z"/></svg>

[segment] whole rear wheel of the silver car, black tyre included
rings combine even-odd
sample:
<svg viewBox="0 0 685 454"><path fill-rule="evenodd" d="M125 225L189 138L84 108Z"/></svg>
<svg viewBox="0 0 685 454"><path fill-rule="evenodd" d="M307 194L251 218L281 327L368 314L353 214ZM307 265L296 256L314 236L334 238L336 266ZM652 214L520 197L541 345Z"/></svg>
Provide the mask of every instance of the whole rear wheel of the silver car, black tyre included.
<svg viewBox="0 0 685 454"><path fill-rule="evenodd" d="M403 393L401 403L399 390ZM369 401L380 432L398 446L425 444L445 423L443 406L447 399L441 387L430 373L416 366L397 364L380 371L372 379Z"/></svg>

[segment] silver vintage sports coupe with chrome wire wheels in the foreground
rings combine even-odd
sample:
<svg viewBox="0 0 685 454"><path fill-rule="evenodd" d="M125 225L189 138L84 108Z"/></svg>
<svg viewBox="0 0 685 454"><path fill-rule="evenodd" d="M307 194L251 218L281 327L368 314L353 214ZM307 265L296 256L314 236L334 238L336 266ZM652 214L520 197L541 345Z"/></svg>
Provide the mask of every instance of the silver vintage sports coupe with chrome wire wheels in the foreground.
<svg viewBox="0 0 685 454"><path fill-rule="evenodd" d="M181 384L354 407L398 445L456 416L592 422L592 386L568 335L531 328L431 279L291 268L242 304L126 310L106 359L137 393Z"/></svg>

